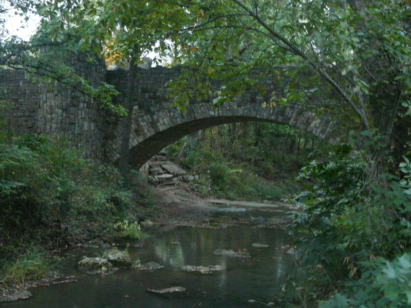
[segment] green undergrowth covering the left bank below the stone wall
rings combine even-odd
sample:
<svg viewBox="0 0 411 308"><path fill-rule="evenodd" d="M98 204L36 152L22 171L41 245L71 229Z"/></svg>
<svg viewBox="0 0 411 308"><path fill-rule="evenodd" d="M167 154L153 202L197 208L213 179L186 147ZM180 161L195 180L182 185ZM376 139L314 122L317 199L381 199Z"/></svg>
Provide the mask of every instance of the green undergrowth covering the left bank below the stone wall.
<svg viewBox="0 0 411 308"><path fill-rule="evenodd" d="M59 136L0 134L0 281L44 278L50 249L141 238L137 222L154 200L137 172L129 177L123 185L116 168L84 159Z"/></svg>

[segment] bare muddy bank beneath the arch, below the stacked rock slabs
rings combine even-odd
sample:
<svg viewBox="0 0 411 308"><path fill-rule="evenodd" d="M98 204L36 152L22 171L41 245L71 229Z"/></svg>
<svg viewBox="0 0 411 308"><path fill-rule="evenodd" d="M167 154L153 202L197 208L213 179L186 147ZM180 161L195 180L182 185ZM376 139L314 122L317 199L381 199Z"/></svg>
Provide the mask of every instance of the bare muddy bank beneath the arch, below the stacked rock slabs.
<svg viewBox="0 0 411 308"><path fill-rule="evenodd" d="M239 223L285 228L298 207L285 203L204 199L184 186L158 188L159 213L153 225L224 227ZM253 215L255 212L257 215ZM265 213L261 217L260 213ZM151 224L150 224L151 225Z"/></svg>

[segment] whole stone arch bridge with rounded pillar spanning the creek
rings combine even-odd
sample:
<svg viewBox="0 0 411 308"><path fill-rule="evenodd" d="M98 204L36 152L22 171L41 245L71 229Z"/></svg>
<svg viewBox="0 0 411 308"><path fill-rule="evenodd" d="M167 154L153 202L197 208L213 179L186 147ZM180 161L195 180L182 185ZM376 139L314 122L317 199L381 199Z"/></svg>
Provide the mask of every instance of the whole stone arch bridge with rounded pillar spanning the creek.
<svg viewBox="0 0 411 308"><path fill-rule="evenodd" d="M103 62L91 64L82 54L72 56L75 69L91 84L104 81L113 84L120 94L114 100L122 103L126 94L125 70L106 70ZM233 102L214 108L211 102L196 102L180 112L167 98L166 83L181 73L182 67L139 68L135 85L133 128L130 137L130 165L142 166L165 146L207 127L243 121L271 121L306 130L333 143L338 139L334 123L326 116L316 117L297 104L263 108L270 100L256 90L248 90ZM273 70L274 71L274 70ZM273 76L261 80L267 93L284 92L284 85L273 83ZM217 89L220 85L216 83ZM13 104L8 111L9 123L16 130L36 133L60 133L89 158L115 163L121 140L120 118L96 106L91 98L55 82L48 86L33 84L22 72L0 71L0 99ZM313 101L312 105L319 101Z"/></svg>

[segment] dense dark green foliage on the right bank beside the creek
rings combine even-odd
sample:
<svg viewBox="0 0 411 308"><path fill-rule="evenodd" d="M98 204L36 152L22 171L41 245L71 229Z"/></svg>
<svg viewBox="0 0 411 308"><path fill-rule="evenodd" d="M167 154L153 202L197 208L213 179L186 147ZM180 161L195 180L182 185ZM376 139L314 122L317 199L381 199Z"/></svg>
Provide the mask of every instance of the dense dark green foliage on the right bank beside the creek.
<svg viewBox="0 0 411 308"><path fill-rule="evenodd" d="M411 246L409 186L387 176L381 180L388 181L388 188L369 183L369 163L366 156L345 145L324 162L310 162L302 169L300 178L311 183L294 199L302 202L303 211L295 216L290 229L301 233L299 262L311 281L311 301L313 295L326 298L338 290L335 281L347 282L346 290L322 302L321 307L408 304L405 297L401 299L406 287L399 281L408 279L401 276L408 275L401 267L407 265L409 256L388 260ZM401 275L396 277L396 271Z"/></svg>

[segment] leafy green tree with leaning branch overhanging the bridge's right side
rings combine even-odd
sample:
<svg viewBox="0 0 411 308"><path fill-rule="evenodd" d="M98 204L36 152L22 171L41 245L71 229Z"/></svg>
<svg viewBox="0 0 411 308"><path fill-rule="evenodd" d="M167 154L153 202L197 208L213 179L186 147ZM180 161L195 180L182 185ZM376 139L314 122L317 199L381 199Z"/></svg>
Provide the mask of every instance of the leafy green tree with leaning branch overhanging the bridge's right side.
<svg viewBox="0 0 411 308"><path fill-rule="evenodd" d="M310 92L331 91L338 100L324 102L316 112L330 113L347 129L380 134L400 152L404 146L409 150L404 142L409 131L401 128L409 124L402 115L411 112L408 4L229 0L190 5L198 20L178 32L177 56L202 75L225 80L214 93L216 104L253 84L251 70L287 64L292 78L287 96L274 94L274 100L304 103L307 86ZM310 80L301 74L306 70Z"/></svg>

